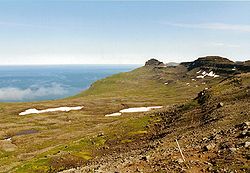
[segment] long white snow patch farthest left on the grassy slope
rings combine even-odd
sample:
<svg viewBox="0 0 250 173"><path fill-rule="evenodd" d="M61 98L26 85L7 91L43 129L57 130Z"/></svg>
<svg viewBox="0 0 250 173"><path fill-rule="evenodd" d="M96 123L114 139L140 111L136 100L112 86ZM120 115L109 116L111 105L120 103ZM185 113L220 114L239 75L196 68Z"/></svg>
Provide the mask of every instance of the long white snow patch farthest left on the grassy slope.
<svg viewBox="0 0 250 173"><path fill-rule="evenodd" d="M76 107L58 107L58 108L49 108L49 109L43 109L43 110L37 110L37 109L27 109L24 112L19 113L19 115L28 115L28 114L40 114L45 112L56 112L56 111L63 111L63 112L69 112L71 110L80 110L83 106L76 106Z"/></svg>

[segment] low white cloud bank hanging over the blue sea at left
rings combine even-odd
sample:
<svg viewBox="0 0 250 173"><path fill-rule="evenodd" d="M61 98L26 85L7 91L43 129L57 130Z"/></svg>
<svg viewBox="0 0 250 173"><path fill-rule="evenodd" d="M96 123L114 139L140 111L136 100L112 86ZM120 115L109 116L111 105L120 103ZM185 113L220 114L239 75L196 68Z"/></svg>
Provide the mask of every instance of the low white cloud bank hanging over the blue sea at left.
<svg viewBox="0 0 250 173"><path fill-rule="evenodd" d="M41 86L39 88L20 89L15 87L0 88L0 100L16 100L34 99L44 96L63 95L66 90L57 83L52 83L51 86Z"/></svg>

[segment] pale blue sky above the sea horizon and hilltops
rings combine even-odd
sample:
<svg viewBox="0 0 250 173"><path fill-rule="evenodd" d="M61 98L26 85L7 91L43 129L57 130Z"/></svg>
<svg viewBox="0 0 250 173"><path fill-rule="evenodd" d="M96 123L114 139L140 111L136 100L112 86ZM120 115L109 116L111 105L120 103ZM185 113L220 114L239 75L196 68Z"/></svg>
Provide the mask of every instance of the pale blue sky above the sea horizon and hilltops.
<svg viewBox="0 0 250 173"><path fill-rule="evenodd" d="M250 59L250 2L0 0L0 65Z"/></svg>

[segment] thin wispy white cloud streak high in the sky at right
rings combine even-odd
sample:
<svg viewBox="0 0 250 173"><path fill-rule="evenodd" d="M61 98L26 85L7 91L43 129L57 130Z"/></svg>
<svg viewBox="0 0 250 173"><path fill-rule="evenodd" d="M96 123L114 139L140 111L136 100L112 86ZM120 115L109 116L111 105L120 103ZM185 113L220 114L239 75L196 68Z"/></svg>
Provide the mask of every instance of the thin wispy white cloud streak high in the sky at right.
<svg viewBox="0 0 250 173"><path fill-rule="evenodd" d="M162 24L169 26L176 26L181 28L196 28L196 29L212 29L212 30L229 30L229 31L240 31L250 32L250 25L241 24L227 24L227 23L170 23L162 22Z"/></svg>

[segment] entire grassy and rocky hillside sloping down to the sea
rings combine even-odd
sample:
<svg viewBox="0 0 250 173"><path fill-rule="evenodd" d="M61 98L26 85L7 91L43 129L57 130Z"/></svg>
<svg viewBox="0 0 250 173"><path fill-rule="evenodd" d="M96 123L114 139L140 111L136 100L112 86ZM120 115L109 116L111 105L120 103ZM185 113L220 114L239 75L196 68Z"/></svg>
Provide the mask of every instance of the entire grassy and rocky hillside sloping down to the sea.
<svg viewBox="0 0 250 173"><path fill-rule="evenodd" d="M0 103L0 171L247 172L249 71L247 63L217 57L176 67L150 64L70 98ZM18 115L78 105L83 109ZM104 116L141 106L163 108Z"/></svg>

